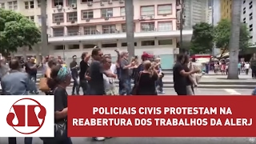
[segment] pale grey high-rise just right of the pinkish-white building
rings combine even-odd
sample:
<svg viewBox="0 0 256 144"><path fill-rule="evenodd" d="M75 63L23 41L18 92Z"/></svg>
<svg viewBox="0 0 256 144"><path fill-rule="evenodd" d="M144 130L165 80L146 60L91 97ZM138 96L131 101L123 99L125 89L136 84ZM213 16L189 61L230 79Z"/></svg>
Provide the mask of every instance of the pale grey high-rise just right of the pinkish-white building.
<svg viewBox="0 0 256 144"><path fill-rule="evenodd" d="M198 22L207 22L208 0L184 0L184 29L191 30Z"/></svg>

